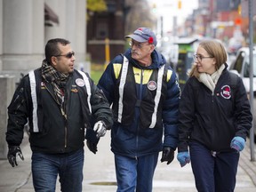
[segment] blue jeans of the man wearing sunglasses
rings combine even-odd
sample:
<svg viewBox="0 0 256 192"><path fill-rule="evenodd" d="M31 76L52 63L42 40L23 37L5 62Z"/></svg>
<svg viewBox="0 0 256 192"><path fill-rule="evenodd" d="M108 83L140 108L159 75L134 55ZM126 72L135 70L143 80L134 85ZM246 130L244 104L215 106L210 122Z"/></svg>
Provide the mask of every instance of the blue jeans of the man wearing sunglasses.
<svg viewBox="0 0 256 192"><path fill-rule="evenodd" d="M36 192L55 192L59 174L63 192L81 192L83 181L84 148L71 154L32 154L32 177Z"/></svg>

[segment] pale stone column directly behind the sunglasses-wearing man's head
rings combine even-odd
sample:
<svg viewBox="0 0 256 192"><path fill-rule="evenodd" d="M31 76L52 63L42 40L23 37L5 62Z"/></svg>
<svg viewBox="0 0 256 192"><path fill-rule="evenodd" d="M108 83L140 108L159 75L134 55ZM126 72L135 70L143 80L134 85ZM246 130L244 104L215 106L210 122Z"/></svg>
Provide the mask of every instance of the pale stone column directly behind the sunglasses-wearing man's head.
<svg viewBox="0 0 256 192"><path fill-rule="evenodd" d="M45 43L51 38L66 38L76 52L77 69L90 73L91 65L86 62L86 1L45 0L59 17L59 24L45 26Z"/></svg>

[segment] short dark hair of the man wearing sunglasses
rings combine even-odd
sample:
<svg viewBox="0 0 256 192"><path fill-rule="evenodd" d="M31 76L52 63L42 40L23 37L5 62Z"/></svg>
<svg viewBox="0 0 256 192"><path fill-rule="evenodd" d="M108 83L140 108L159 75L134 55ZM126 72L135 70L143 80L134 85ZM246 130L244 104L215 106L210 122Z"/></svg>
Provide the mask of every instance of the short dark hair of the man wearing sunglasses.
<svg viewBox="0 0 256 192"><path fill-rule="evenodd" d="M70 42L66 39L62 39L62 38L55 38L55 39L50 39L47 44L45 45L45 59L47 61L48 64L51 63L51 58L52 56L56 56L56 55L60 55L60 48L59 48L59 44L62 45L67 45L70 44Z"/></svg>

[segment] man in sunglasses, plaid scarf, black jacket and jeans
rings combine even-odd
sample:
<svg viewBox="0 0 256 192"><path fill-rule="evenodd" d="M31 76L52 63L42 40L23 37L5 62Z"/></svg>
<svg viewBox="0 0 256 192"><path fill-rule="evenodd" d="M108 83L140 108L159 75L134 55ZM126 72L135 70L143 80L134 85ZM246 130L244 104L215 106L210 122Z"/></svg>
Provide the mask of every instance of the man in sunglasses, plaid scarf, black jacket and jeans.
<svg viewBox="0 0 256 192"><path fill-rule="evenodd" d="M8 160L23 160L20 143L29 124L35 191L82 191L84 139L95 154L100 137L112 126L112 113L103 92L87 73L74 68L75 52L66 39L45 45L41 68L20 81L8 107Z"/></svg>

